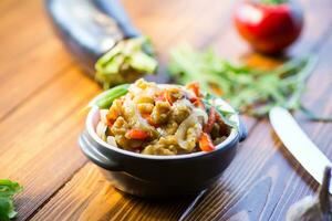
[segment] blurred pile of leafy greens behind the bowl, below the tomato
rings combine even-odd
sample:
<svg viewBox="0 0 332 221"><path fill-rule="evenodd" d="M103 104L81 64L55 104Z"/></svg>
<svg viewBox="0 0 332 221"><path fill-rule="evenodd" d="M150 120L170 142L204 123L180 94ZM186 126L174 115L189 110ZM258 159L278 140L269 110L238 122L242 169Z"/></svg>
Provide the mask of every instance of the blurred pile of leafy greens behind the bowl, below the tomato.
<svg viewBox="0 0 332 221"><path fill-rule="evenodd" d="M273 106L282 106L301 109L312 120L330 122L332 118L318 117L308 110L300 99L315 63L317 57L311 55L263 71L232 64L212 50L197 52L183 45L170 52L168 71L180 84L199 81L204 91L222 96L240 113L263 117Z"/></svg>

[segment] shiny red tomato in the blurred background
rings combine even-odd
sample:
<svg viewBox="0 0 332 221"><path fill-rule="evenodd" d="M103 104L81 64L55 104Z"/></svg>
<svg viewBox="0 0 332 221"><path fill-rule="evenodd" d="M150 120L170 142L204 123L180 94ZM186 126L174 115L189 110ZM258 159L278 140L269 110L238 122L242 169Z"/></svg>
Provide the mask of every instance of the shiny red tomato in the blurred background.
<svg viewBox="0 0 332 221"><path fill-rule="evenodd" d="M236 9L235 23L255 50L278 53L299 38L303 13L292 1L280 4L246 1Z"/></svg>

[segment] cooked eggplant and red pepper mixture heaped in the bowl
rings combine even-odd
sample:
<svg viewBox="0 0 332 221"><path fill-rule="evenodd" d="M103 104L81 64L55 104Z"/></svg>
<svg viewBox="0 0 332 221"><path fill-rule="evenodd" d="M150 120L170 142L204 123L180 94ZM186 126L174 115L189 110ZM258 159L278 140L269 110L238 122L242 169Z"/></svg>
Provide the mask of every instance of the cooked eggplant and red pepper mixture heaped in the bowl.
<svg viewBox="0 0 332 221"><path fill-rule="evenodd" d="M107 144L144 155L211 151L236 124L198 83L187 86L137 80L104 93L96 133Z"/></svg>

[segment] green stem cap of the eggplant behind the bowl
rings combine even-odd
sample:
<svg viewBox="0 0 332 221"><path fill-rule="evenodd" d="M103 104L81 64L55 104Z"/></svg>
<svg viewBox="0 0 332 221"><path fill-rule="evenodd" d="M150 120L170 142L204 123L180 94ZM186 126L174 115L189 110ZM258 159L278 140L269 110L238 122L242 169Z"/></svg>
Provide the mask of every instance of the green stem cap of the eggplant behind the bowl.
<svg viewBox="0 0 332 221"><path fill-rule="evenodd" d="M104 88L133 82L144 74L153 74L157 61L148 38L139 36L118 42L95 63L95 78Z"/></svg>

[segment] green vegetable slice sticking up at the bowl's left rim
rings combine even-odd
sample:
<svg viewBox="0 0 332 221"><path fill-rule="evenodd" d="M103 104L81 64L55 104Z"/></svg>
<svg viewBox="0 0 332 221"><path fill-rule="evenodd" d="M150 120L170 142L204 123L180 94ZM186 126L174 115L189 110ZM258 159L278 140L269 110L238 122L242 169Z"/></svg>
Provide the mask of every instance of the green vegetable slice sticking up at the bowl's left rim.
<svg viewBox="0 0 332 221"><path fill-rule="evenodd" d="M102 97L92 101L90 105L96 105L100 108L108 108L113 101L128 93L128 84L122 84L104 92Z"/></svg>

